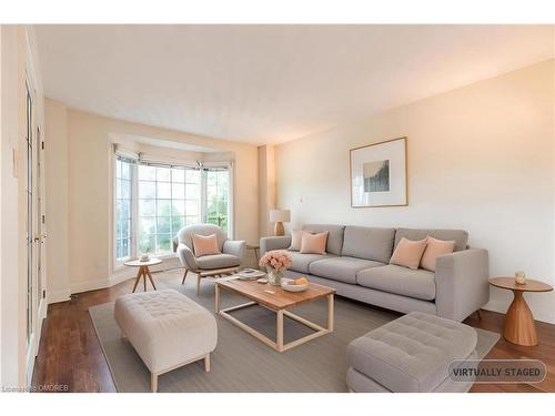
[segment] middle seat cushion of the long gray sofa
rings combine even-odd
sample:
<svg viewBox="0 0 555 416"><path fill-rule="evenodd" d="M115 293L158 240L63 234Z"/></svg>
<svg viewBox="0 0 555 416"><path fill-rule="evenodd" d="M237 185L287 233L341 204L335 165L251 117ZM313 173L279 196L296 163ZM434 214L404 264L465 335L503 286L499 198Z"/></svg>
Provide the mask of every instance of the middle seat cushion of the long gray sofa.
<svg viewBox="0 0 555 416"><path fill-rule="evenodd" d="M364 268L383 266L383 263L355 257L316 260L309 266L311 274L334 281L356 284L356 273Z"/></svg>

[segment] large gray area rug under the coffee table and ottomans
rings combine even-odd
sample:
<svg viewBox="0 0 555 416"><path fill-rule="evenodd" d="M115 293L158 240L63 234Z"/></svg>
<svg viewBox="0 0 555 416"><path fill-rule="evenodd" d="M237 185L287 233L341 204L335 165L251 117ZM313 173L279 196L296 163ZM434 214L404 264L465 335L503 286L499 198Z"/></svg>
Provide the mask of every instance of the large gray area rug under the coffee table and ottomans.
<svg viewBox="0 0 555 416"><path fill-rule="evenodd" d="M195 294L195 276L181 285L181 272L154 274L159 288L175 288L213 312L213 282L203 280ZM222 291L222 306L245 300ZM302 305L295 313L325 324L324 300ZM113 303L89 310L102 349L119 392L150 392L150 373L129 341L121 338L113 318ZM275 338L275 314L260 306L234 313L234 316ZM393 312L373 308L343 298L335 300L335 331L284 353L278 353L230 322L216 317L218 347L212 353L211 372L202 362L174 369L159 377L159 392L346 392L346 346L367 332L397 318ZM285 342L307 334L310 328L285 318ZM500 335L477 329L477 353L484 357Z"/></svg>

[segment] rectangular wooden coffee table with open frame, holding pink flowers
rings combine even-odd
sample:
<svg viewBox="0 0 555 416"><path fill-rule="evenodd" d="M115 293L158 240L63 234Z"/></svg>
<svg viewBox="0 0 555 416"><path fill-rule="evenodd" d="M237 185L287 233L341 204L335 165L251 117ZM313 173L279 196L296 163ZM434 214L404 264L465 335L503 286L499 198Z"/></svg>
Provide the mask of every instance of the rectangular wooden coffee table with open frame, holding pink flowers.
<svg viewBox="0 0 555 416"><path fill-rule="evenodd" d="M251 302L241 305L220 310L220 290L230 291L244 296ZM271 346L275 351L282 353L295 346L304 344L319 336L333 332L333 297L335 290L332 287L322 286L315 283L310 283L310 286L304 292L286 292L280 286L272 286L270 284L260 284L256 281L241 281L235 280L220 280L215 282L215 313L225 319L230 321L241 329L245 331L256 339ZM303 303L312 302L321 297L327 298L327 327L322 327L313 322L310 322L299 315L287 311L291 307L299 306ZM251 326L244 324L238 318L231 316L229 312L250 307L252 305L261 305L270 311L275 312L275 341L270 339ZM287 316L292 319L300 322L303 325L314 329L315 332L303 336L302 338L292 341L291 343L283 344L283 317Z"/></svg>

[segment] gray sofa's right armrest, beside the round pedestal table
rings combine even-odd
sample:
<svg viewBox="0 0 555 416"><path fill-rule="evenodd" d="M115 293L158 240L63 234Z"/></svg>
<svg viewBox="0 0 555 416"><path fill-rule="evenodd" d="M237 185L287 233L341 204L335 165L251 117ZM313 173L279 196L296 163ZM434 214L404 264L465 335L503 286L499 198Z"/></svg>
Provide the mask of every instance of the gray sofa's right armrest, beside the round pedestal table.
<svg viewBox="0 0 555 416"><path fill-rule="evenodd" d="M490 301L487 250L468 248L437 257L437 316L462 322Z"/></svg>

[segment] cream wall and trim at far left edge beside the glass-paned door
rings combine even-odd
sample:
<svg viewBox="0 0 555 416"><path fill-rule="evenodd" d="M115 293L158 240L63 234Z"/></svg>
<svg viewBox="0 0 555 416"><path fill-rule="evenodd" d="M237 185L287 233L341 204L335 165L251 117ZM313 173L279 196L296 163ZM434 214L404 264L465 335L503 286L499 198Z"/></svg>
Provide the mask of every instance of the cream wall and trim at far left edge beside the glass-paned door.
<svg viewBox="0 0 555 416"><path fill-rule="evenodd" d="M46 311L38 307L39 293L37 285L33 285L31 332L34 337L30 339L28 348L26 79L33 97L33 132L37 128L42 128L43 98L32 28L3 24L0 26L0 31L1 383L7 387L24 387L32 374L42 313ZM46 303L41 306L46 306Z"/></svg>

